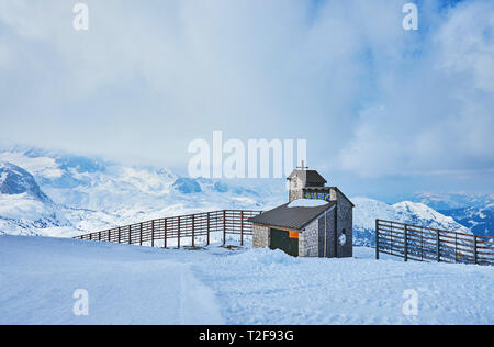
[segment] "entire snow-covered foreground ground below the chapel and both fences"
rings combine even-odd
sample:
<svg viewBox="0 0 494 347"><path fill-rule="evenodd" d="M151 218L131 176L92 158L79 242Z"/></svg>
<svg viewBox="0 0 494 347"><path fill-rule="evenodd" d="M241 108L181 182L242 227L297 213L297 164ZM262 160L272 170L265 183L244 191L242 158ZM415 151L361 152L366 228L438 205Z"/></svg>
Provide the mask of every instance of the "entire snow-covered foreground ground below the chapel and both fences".
<svg viewBox="0 0 494 347"><path fill-rule="evenodd" d="M0 324L493 324L494 268L0 236ZM89 315L76 316L76 290ZM418 314L406 316L406 290Z"/></svg>

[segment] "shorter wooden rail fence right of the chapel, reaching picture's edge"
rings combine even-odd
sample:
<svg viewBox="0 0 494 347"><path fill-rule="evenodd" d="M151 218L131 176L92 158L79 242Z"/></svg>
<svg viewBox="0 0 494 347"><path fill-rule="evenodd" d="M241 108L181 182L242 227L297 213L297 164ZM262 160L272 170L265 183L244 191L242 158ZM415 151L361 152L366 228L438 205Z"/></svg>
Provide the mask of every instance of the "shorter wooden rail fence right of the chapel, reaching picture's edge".
<svg viewBox="0 0 494 347"><path fill-rule="evenodd" d="M377 220L377 259L380 253L405 261L494 265L494 237Z"/></svg>

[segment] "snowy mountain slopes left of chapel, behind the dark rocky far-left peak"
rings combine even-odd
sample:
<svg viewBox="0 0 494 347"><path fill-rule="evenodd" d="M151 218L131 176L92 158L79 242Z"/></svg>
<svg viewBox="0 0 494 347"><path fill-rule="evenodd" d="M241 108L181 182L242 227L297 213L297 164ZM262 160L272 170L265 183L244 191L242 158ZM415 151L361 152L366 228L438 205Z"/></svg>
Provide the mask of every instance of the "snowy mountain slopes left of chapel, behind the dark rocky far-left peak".
<svg viewBox="0 0 494 347"><path fill-rule="evenodd" d="M237 186L231 181L182 178L154 167L125 167L116 163L42 149L16 148L0 153L0 160L30 171L56 203L98 211L172 211L211 206L254 209L278 203L284 184ZM284 183L284 182L283 182ZM284 197L283 197L284 198ZM158 208L157 208L158 206Z"/></svg>

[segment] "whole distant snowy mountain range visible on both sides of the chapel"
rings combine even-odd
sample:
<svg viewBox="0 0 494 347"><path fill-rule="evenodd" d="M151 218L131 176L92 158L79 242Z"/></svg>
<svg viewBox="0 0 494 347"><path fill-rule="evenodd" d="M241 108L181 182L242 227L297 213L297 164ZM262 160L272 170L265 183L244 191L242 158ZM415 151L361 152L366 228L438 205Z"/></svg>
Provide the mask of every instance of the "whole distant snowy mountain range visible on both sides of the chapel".
<svg viewBox="0 0 494 347"><path fill-rule="evenodd" d="M287 198L282 180L191 179L162 168L126 167L37 148L0 150L0 234L76 236L184 213L268 210ZM437 197L419 199L439 203ZM390 205L368 198L351 200L356 245L373 243L375 219L461 232L493 230L492 205L482 212L475 206L439 213L419 201Z"/></svg>

